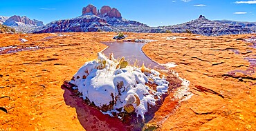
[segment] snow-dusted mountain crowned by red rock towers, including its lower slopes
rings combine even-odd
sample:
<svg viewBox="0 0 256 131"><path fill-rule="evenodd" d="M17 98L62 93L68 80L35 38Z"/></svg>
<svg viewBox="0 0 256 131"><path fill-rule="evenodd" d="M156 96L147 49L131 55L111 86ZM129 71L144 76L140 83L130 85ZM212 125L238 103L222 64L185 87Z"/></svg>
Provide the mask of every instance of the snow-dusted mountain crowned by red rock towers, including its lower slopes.
<svg viewBox="0 0 256 131"><path fill-rule="evenodd" d="M82 16L73 19L64 19L48 23L33 32L96 32L96 31L123 31L122 27L148 27L138 21L123 19L116 8L103 6L97 11L93 5L82 9Z"/></svg>

